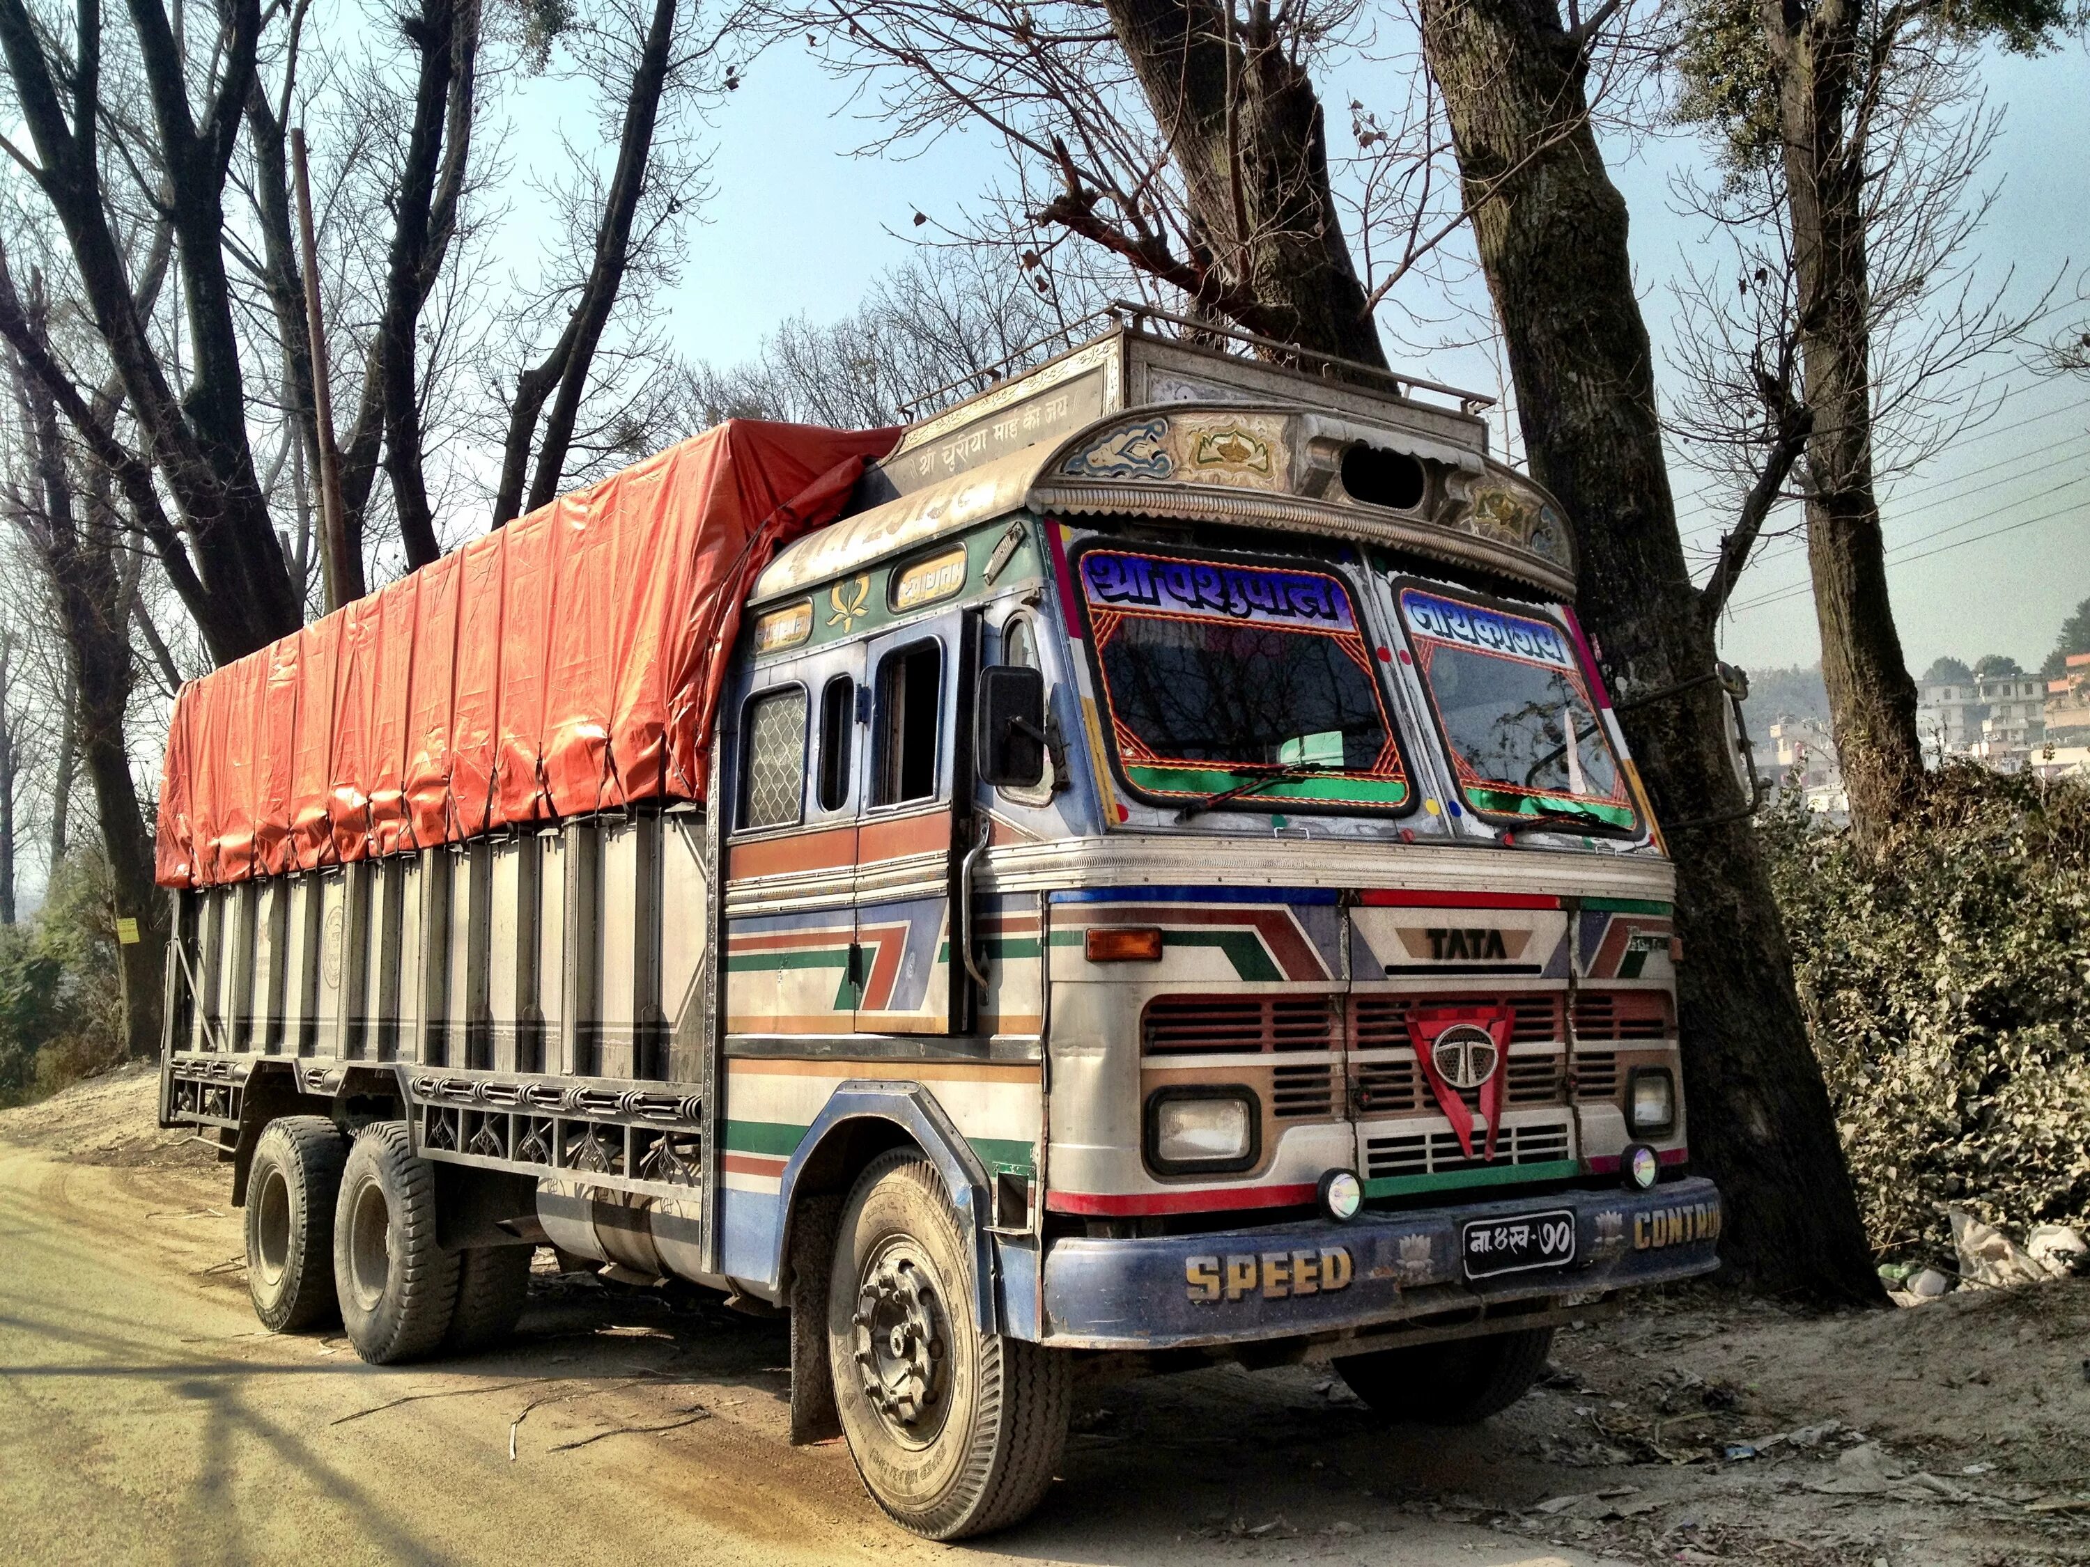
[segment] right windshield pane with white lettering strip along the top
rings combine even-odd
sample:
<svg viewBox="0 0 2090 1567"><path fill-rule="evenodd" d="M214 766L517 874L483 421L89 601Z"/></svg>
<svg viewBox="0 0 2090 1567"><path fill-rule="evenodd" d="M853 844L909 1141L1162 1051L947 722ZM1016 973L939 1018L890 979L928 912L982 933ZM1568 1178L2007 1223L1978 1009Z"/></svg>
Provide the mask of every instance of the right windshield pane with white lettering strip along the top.
<svg viewBox="0 0 2090 1567"><path fill-rule="evenodd" d="M1473 811L1639 825L1588 679L1553 621L1419 587L1400 589L1400 618Z"/></svg>

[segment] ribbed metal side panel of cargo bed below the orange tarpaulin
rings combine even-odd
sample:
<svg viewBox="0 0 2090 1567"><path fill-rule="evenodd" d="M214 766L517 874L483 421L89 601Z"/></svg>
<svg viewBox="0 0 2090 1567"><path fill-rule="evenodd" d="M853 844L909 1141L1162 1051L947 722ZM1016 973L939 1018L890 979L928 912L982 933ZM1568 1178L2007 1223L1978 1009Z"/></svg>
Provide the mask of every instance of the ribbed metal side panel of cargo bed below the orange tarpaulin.
<svg viewBox="0 0 2090 1567"><path fill-rule="evenodd" d="M161 1118L382 1095L428 1157L709 1216L713 855L637 806L178 892Z"/></svg>

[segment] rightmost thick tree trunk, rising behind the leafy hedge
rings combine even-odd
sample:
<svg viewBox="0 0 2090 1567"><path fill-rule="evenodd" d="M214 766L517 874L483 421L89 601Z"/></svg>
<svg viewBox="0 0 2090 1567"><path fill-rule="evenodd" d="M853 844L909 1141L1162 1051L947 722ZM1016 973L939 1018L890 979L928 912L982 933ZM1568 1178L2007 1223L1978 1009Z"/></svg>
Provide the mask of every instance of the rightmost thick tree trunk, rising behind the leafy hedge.
<svg viewBox="0 0 2090 1567"><path fill-rule="evenodd" d="M1923 740L1873 491L1864 140L1848 134L1860 17L1845 0L1806 13L1766 0L1762 17L1785 144L1802 395L1814 412L1806 516L1822 683L1852 827L1877 842L1923 784Z"/></svg>

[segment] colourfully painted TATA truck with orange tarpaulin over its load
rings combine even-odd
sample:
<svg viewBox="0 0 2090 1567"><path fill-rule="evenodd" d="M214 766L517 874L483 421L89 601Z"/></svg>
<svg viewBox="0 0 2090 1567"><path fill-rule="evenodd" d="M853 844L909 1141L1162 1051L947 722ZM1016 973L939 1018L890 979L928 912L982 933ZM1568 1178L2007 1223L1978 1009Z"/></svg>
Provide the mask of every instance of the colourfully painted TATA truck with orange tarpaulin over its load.
<svg viewBox="0 0 2090 1567"><path fill-rule="evenodd" d="M721 426L182 694L161 1120L270 1329L721 1291L932 1538L1083 1377L1488 1417L1720 1235L1574 549L1478 399L1133 326Z"/></svg>

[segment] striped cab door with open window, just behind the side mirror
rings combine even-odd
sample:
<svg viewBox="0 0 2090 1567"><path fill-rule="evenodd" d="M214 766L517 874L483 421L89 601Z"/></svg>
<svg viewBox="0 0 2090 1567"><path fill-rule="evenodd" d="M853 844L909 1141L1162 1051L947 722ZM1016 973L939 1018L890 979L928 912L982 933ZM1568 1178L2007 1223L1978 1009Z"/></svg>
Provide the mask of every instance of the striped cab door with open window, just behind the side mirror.
<svg viewBox="0 0 2090 1567"><path fill-rule="evenodd" d="M972 984L953 953L972 829L972 669L978 614L913 621L865 648L859 769L855 1024L865 1034L961 1034Z"/></svg>

